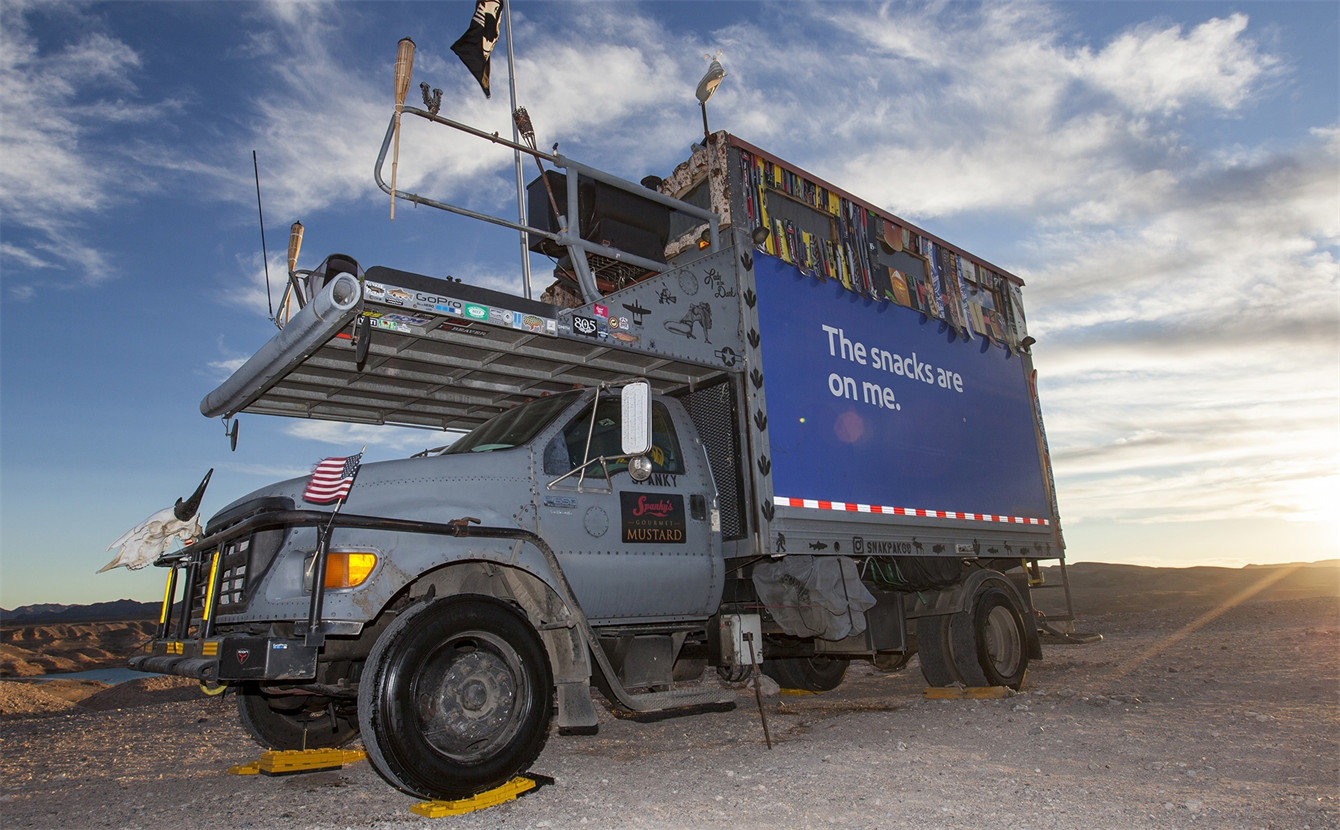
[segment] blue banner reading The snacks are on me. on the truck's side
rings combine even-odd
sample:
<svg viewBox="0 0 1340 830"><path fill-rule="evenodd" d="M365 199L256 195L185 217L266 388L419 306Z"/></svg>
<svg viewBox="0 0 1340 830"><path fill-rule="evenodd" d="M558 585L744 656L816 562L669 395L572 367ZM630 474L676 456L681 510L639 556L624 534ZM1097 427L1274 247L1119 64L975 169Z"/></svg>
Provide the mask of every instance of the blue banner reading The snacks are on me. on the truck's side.
<svg viewBox="0 0 1340 830"><path fill-rule="evenodd" d="M1051 519L1024 362L754 253L777 496Z"/></svg>

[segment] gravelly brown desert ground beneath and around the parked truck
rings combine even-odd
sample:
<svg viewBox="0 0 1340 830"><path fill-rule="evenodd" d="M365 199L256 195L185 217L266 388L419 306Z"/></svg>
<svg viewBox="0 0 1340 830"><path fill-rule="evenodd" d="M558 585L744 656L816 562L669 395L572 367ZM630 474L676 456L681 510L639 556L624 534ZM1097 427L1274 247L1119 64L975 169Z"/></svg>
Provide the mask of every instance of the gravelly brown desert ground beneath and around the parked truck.
<svg viewBox="0 0 1340 830"><path fill-rule="evenodd" d="M835 692L552 736L556 779L426 819L366 762L236 776L257 758L230 697L0 721L17 827L1340 827L1340 605L1107 614L1044 646L1006 700L930 701L917 661ZM714 683L710 681L710 683Z"/></svg>

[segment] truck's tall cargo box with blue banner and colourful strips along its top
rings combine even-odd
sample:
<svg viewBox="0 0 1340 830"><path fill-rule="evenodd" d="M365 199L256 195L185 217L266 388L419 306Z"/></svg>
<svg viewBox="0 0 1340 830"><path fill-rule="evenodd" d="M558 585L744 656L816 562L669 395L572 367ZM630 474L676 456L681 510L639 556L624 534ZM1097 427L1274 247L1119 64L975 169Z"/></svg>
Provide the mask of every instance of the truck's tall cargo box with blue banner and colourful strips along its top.
<svg viewBox="0 0 1340 830"><path fill-rule="evenodd" d="M736 137L662 189L753 243L740 475L758 552L1061 555L1022 280Z"/></svg>

